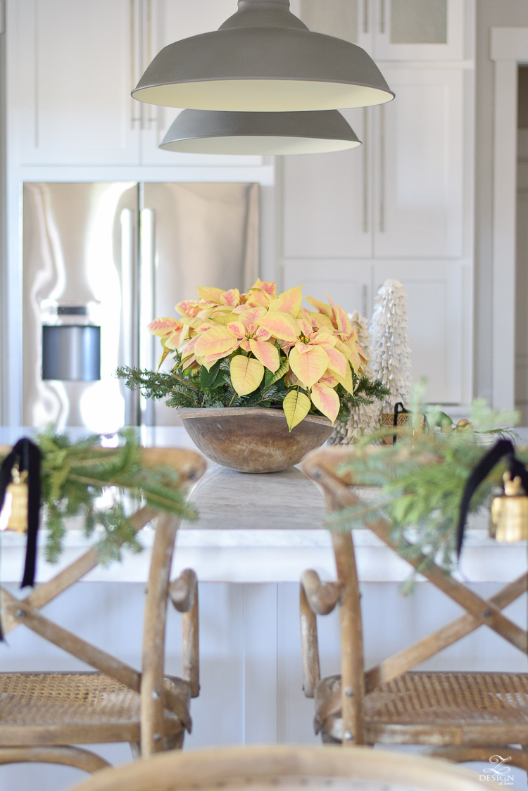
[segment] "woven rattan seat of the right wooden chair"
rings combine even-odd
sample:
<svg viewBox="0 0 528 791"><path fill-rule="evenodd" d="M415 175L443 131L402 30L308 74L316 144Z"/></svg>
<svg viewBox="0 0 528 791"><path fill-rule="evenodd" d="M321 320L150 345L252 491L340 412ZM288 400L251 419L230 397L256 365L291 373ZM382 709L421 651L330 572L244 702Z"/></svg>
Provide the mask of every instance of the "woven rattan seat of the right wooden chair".
<svg viewBox="0 0 528 791"><path fill-rule="evenodd" d="M329 740L342 738L340 698L340 676L321 679L315 727ZM467 743L474 733L482 744L477 732L487 727L489 744L526 744L528 673L404 673L366 695L365 726L369 742L405 742L407 732L410 744L431 744L433 733L435 744L459 744L457 734Z"/></svg>

